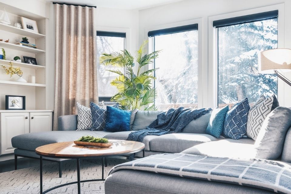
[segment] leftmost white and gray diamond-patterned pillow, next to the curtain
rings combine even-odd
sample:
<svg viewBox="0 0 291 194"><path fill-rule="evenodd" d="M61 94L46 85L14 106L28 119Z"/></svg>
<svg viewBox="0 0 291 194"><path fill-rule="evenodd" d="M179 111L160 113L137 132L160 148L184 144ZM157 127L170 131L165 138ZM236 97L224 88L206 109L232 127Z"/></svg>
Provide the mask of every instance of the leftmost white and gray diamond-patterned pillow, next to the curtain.
<svg viewBox="0 0 291 194"><path fill-rule="evenodd" d="M78 124L77 131L92 129L91 109L77 102Z"/></svg>

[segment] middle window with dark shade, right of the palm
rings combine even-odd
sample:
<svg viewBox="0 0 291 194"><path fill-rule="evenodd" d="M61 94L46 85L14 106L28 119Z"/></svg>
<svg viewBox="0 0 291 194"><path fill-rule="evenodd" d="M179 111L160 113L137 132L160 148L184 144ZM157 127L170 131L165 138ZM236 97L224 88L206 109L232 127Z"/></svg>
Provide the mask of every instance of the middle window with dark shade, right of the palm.
<svg viewBox="0 0 291 194"><path fill-rule="evenodd" d="M162 50L154 61L154 82L160 110L197 108L198 103L198 25L150 31L153 50Z"/></svg>

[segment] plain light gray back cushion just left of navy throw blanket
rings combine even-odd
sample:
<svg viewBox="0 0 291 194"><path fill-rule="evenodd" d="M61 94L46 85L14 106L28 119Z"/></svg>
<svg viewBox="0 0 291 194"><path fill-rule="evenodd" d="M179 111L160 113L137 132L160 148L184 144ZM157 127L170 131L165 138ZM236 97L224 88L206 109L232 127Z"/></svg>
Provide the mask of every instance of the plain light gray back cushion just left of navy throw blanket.
<svg viewBox="0 0 291 194"><path fill-rule="evenodd" d="M163 111L143 111L139 110L135 114L135 119L132 125L132 131L138 131L141 129L146 129L149 124L157 119L158 114Z"/></svg>

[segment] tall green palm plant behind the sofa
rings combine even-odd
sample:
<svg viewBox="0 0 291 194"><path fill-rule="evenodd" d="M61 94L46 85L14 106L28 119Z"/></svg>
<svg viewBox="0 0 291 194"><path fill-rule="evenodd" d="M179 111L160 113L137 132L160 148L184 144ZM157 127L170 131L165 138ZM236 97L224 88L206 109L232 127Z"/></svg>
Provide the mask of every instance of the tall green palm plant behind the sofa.
<svg viewBox="0 0 291 194"><path fill-rule="evenodd" d="M136 51L136 61L139 63L137 74L133 72L134 58L126 49L110 54L103 53L100 57L102 65L125 68L125 73L119 70L107 70L118 74L118 77L110 82L118 90L111 101L119 102L122 109L157 110L154 104L157 91L156 88L152 87L152 81L155 79L152 73L159 68L149 69L145 72L141 72L141 68L151 64L153 59L158 57L160 51L143 55L146 44L147 41L143 42L139 50Z"/></svg>

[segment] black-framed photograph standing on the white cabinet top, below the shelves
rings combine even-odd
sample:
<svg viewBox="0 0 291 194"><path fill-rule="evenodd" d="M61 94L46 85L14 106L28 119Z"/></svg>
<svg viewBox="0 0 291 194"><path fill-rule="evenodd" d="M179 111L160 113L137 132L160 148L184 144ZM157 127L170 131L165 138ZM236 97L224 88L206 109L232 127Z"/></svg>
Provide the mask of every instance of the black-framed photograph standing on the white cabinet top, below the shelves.
<svg viewBox="0 0 291 194"><path fill-rule="evenodd" d="M5 95L6 110L25 110L25 96Z"/></svg>

